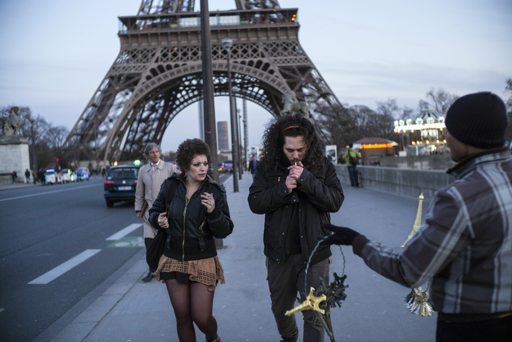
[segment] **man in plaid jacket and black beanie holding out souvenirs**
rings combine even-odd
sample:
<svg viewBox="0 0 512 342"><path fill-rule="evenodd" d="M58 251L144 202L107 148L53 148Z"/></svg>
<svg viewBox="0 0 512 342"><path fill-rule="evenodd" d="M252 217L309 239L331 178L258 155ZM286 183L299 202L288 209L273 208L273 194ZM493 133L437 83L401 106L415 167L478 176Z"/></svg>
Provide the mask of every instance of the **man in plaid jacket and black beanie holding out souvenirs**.
<svg viewBox="0 0 512 342"><path fill-rule="evenodd" d="M505 104L489 92L457 99L446 114L457 179L437 191L425 223L403 250L346 227L324 243L352 245L374 271L404 286L430 283L436 341L512 336L512 156Z"/></svg>

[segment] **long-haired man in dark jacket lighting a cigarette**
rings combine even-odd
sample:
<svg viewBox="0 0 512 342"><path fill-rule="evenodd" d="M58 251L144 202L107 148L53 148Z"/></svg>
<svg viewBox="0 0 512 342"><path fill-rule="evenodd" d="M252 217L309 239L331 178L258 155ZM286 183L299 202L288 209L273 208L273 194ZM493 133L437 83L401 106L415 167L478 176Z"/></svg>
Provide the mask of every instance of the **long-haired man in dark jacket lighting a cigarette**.
<svg viewBox="0 0 512 342"><path fill-rule="evenodd" d="M339 210L344 195L334 165L324 156L313 124L300 114L281 116L267 126L261 159L249 188L249 207L265 214L263 232L272 313L283 341L296 341L295 316L285 316L300 293L304 301L320 278L329 282L331 250L318 248L330 212ZM324 328L303 311L304 341L324 341Z"/></svg>

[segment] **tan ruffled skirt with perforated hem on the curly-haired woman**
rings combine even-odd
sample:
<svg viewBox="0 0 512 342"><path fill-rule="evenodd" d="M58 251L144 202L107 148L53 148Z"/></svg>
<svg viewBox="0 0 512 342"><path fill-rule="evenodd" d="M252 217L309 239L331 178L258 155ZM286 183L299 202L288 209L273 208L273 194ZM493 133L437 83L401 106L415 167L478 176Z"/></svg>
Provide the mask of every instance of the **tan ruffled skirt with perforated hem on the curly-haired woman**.
<svg viewBox="0 0 512 342"><path fill-rule="evenodd" d="M224 269L217 255L208 259L179 261L168 258L162 254L158 262L158 268L153 273L155 279L160 281L160 273L179 272L188 274L191 282L208 285L208 290L215 291L217 282L225 284ZM164 282L164 281L162 281Z"/></svg>

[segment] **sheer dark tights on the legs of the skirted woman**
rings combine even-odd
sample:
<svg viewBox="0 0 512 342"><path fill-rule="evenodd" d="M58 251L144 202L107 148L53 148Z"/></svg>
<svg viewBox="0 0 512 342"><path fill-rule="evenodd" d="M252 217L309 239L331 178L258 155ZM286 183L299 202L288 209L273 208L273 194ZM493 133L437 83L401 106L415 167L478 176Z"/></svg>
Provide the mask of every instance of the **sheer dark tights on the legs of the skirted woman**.
<svg viewBox="0 0 512 342"><path fill-rule="evenodd" d="M180 284L176 279L166 280L165 286L173 305L180 341L196 340L194 323L206 335L208 341L215 340L217 321L212 314L215 291L208 291L208 285Z"/></svg>

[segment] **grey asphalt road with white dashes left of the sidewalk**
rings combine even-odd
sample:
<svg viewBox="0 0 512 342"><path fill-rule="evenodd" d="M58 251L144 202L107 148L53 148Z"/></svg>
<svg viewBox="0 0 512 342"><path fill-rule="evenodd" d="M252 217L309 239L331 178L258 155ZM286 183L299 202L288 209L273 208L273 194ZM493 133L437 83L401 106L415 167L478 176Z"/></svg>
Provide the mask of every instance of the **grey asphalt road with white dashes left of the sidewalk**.
<svg viewBox="0 0 512 342"><path fill-rule="evenodd" d="M0 234L0 341L6 342L31 341L80 301L92 303L144 247L133 202L106 207L100 176L0 191Z"/></svg>

